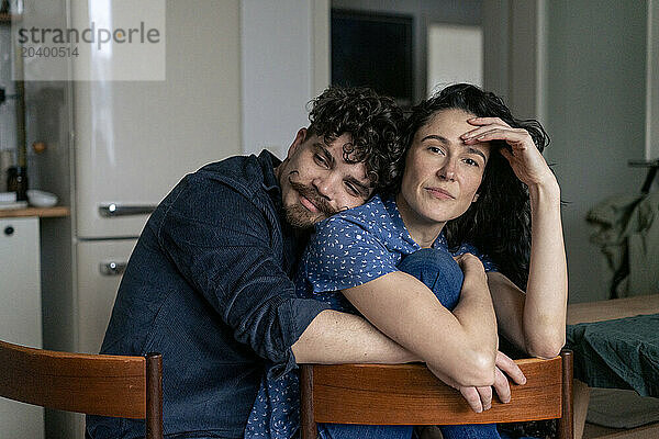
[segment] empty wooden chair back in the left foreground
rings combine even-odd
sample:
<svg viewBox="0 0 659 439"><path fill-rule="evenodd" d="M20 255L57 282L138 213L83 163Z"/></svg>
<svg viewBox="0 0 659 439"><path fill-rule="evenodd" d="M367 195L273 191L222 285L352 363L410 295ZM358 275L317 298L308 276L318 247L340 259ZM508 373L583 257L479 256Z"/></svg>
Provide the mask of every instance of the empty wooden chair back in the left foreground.
<svg viewBox="0 0 659 439"><path fill-rule="evenodd" d="M89 415L146 419L163 438L163 357L92 356L0 341L0 396Z"/></svg>

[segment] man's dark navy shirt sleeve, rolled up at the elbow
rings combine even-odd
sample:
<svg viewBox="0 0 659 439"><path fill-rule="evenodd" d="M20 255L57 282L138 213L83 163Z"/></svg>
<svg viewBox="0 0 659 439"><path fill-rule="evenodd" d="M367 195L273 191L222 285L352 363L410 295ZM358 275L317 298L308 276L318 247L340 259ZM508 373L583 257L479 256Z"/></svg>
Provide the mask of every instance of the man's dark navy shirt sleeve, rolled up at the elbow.
<svg viewBox="0 0 659 439"><path fill-rule="evenodd" d="M158 244L179 273L237 341L261 358L293 367L290 347L328 306L297 297L277 257L281 249L272 248L277 224L254 200L197 175L181 182L163 209Z"/></svg>

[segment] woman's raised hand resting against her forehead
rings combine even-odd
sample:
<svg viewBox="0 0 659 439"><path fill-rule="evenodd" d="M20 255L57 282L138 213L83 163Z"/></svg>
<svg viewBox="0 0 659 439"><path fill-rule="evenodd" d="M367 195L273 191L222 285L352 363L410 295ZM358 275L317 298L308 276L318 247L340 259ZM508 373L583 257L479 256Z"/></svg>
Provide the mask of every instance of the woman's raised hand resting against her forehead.
<svg viewBox="0 0 659 439"><path fill-rule="evenodd" d="M471 145L503 140L509 144L511 150L501 148L499 151L509 160L515 176L526 185L541 185L545 182L556 181L547 161L526 130L513 128L499 117L472 117L467 122L478 128L462 134L465 143Z"/></svg>

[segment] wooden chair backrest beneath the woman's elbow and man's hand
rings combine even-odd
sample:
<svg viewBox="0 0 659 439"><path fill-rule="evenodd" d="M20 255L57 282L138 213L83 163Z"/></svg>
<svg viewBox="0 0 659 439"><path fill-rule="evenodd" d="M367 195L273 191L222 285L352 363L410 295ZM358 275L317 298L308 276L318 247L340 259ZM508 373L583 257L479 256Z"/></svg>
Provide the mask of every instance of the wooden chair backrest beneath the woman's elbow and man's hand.
<svg viewBox="0 0 659 439"><path fill-rule="evenodd" d="M559 438L572 439L572 352L515 362L526 384L511 384L509 404L492 401L492 408L480 414L424 364L303 364L302 439L317 436L316 423L458 425L551 418L559 418Z"/></svg>

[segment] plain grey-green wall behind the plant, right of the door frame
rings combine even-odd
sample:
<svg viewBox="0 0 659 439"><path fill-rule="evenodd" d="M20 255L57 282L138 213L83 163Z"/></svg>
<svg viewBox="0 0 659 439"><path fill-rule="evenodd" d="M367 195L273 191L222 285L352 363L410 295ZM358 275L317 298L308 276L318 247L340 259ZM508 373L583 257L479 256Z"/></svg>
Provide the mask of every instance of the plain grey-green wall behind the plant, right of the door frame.
<svg viewBox="0 0 659 439"><path fill-rule="evenodd" d="M645 169L647 1L547 2L549 161L562 189L570 301L606 299L588 211L605 198L640 192Z"/></svg>

